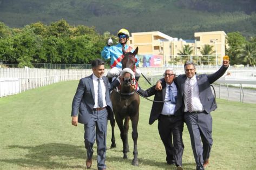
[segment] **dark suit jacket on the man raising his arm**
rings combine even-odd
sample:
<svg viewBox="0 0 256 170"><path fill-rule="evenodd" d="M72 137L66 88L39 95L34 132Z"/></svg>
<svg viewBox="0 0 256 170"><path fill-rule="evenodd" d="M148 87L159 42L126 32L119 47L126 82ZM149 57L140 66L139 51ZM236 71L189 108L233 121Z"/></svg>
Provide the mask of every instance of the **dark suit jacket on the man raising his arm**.
<svg viewBox="0 0 256 170"><path fill-rule="evenodd" d="M196 74L196 80L198 81L199 87L199 97L202 106L204 107L207 113L211 113L217 108L212 90L211 84L214 81L218 80L227 70L228 67L221 66L218 71L212 74ZM183 98L184 86L187 77L186 74L181 74L180 76L175 78L175 83L178 85L178 89L181 92L181 96ZM183 100L182 100L183 102ZM184 111L185 105L182 107L182 111Z"/></svg>

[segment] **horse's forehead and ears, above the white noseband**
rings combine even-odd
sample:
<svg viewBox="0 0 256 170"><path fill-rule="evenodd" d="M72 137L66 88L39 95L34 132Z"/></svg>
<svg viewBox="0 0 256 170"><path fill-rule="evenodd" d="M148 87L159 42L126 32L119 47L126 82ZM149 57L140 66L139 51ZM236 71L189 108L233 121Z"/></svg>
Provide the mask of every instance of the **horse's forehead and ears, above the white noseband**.
<svg viewBox="0 0 256 170"><path fill-rule="evenodd" d="M137 59L135 56L138 53L138 47L134 50L134 52L126 52L124 48L122 47L122 52L123 52L123 59L122 59L122 69L124 68L130 68L132 70L135 69L135 64L137 62Z"/></svg>

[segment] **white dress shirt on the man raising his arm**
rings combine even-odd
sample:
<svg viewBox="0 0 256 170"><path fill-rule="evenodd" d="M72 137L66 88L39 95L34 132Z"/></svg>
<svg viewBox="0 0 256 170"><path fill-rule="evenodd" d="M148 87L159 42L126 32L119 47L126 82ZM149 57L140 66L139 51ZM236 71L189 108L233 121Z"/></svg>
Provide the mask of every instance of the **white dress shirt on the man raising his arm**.
<svg viewBox="0 0 256 170"><path fill-rule="evenodd" d="M194 111L203 111L204 107L202 106L202 103L200 101L199 96L199 87L198 87L198 81L196 80L196 76L194 75L191 79L187 78L185 81L184 86L184 104L185 109L184 111L187 112L187 98L188 98L188 83L189 80L191 80L191 86L192 86L192 112Z"/></svg>

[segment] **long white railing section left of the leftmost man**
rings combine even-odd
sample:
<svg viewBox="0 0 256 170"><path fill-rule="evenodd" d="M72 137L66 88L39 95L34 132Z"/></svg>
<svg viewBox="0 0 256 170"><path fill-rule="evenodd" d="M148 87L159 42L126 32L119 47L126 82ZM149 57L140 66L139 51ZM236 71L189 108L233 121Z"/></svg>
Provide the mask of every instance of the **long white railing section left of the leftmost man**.
<svg viewBox="0 0 256 170"><path fill-rule="evenodd" d="M89 76L91 73L91 69L50 70L1 68L0 97L21 93L60 81L79 80Z"/></svg>

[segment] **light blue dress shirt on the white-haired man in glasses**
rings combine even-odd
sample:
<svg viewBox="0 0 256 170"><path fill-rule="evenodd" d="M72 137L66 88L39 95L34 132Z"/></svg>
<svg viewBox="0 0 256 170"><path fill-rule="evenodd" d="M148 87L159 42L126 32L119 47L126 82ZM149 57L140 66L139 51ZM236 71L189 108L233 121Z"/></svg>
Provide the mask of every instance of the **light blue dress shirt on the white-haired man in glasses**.
<svg viewBox="0 0 256 170"><path fill-rule="evenodd" d="M173 92L174 98L176 98L177 96L176 85L174 83L170 85L166 83L165 103L163 103L163 110L161 112L161 114L163 115L174 115L174 112L175 112L176 104L172 104L170 101L168 101L170 100L169 86L170 86L170 90L172 90Z"/></svg>

